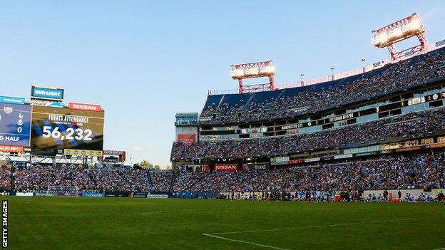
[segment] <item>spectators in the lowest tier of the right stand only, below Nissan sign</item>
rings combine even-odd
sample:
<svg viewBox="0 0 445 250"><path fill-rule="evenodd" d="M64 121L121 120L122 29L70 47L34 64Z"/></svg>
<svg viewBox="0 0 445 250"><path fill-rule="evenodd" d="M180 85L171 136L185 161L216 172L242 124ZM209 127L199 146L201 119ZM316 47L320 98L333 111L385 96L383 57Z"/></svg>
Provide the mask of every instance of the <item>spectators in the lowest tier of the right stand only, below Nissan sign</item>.
<svg viewBox="0 0 445 250"><path fill-rule="evenodd" d="M296 192L445 187L445 155L385 156L310 167L180 172L174 192Z"/></svg>

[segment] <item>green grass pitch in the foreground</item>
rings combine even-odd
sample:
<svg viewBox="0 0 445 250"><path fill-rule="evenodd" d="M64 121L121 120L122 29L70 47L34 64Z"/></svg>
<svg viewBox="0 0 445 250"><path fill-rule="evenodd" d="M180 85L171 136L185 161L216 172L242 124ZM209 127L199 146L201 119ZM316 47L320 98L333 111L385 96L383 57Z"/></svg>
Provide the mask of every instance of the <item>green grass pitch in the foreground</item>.
<svg viewBox="0 0 445 250"><path fill-rule="evenodd" d="M445 247L444 203L7 199L9 249L432 250Z"/></svg>

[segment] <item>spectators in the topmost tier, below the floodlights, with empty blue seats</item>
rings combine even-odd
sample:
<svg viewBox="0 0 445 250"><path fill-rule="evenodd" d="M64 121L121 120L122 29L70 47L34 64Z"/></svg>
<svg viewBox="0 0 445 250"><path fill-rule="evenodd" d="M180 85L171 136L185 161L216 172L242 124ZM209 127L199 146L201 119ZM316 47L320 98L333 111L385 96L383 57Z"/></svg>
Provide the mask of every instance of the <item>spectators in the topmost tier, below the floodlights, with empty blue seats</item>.
<svg viewBox="0 0 445 250"><path fill-rule="evenodd" d="M334 82L309 85L299 90L275 90L283 92L276 95L267 92L244 94L235 103L225 102L223 98L218 105L206 103L201 117L210 118L203 123L240 123L290 117L441 78L445 76L444 66L445 49L441 48Z"/></svg>

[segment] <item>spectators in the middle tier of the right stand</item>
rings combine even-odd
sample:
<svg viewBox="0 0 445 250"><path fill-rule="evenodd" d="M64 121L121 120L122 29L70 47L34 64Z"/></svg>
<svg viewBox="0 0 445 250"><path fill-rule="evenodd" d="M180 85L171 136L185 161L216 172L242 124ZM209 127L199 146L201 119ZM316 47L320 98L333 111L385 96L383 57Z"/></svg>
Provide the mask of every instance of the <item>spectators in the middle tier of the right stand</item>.
<svg viewBox="0 0 445 250"><path fill-rule="evenodd" d="M396 118L349 125L291 137L271 137L263 140L195 142L192 145L173 144L174 160L267 157L320 148L334 148L351 143L367 143L404 135L419 136L445 128L445 111L410 113Z"/></svg>

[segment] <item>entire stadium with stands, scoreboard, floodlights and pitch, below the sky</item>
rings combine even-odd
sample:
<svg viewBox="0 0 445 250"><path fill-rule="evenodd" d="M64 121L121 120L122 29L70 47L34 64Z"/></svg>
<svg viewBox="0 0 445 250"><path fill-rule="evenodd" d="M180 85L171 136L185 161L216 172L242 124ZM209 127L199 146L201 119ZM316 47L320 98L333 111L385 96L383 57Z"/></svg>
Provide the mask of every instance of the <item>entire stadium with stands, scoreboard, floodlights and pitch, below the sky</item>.
<svg viewBox="0 0 445 250"><path fill-rule="evenodd" d="M230 66L175 114L171 170L104 147L117 111L74 88L0 96L2 247L444 249L445 40L416 13L371 39L388 59L292 85Z"/></svg>

